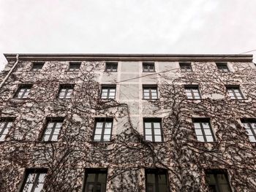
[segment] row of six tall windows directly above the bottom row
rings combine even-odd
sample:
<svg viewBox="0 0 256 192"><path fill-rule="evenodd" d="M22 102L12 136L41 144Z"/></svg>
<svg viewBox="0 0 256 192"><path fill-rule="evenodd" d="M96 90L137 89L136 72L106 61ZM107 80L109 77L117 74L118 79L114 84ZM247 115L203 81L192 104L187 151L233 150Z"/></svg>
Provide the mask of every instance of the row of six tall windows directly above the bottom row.
<svg viewBox="0 0 256 192"><path fill-rule="evenodd" d="M0 141L4 141L12 126L13 118L3 118L0 122ZM47 120L42 141L58 141L63 124L63 118L50 118ZM210 119L193 118L195 134L199 142L215 142L215 134L211 128ZM256 120L241 119L250 142L256 142ZM162 142L161 118L143 118L144 139L149 142ZM110 142L113 130L113 118L95 118L94 142Z"/></svg>

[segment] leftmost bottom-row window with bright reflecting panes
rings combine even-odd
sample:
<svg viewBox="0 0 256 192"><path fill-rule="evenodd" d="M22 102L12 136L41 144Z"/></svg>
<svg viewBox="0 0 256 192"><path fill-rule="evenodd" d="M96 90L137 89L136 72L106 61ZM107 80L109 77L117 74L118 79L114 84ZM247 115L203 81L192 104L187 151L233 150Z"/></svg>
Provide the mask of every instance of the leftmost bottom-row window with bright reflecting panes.
<svg viewBox="0 0 256 192"><path fill-rule="evenodd" d="M27 169L20 192L42 191L47 169Z"/></svg>

